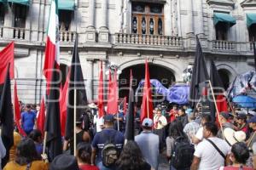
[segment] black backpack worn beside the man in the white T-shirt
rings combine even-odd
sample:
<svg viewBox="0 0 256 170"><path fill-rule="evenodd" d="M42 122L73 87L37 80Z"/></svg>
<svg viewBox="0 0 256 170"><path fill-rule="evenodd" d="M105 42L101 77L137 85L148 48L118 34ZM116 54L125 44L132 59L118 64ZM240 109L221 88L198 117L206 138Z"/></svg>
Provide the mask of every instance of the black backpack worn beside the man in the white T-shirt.
<svg viewBox="0 0 256 170"><path fill-rule="evenodd" d="M171 156L171 165L176 169L188 168L191 166L194 157L194 145L187 139L178 137L174 142Z"/></svg>

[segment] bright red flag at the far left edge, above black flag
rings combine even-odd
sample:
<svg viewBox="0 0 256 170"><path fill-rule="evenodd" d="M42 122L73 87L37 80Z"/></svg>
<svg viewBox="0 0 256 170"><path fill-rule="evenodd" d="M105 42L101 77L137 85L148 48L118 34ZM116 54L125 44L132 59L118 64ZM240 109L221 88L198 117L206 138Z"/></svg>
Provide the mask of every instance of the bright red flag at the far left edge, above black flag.
<svg viewBox="0 0 256 170"><path fill-rule="evenodd" d="M10 42L6 48L0 52L0 84L3 84L7 72L7 67L9 65L9 78L13 79L15 77L15 42Z"/></svg>

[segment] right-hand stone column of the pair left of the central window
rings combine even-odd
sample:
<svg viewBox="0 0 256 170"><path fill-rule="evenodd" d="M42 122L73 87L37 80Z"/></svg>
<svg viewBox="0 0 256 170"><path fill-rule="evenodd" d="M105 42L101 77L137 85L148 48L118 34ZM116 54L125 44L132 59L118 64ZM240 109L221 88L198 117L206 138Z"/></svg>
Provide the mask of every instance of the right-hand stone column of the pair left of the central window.
<svg viewBox="0 0 256 170"><path fill-rule="evenodd" d="M108 35L108 0L102 0L102 20L99 31L99 42L109 42Z"/></svg>

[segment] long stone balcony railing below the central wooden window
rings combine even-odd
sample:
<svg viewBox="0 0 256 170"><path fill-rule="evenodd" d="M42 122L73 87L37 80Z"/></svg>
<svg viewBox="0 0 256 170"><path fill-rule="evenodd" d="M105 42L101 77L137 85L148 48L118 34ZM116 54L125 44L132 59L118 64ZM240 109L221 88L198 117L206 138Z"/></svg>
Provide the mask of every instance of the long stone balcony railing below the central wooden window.
<svg viewBox="0 0 256 170"><path fill-rule="evenodd" d="M181 37L125 34L125 33L116 33L115 42L119 44L142 44L142 45L171 46L171 47L179 47L182 45Z"/></svg>

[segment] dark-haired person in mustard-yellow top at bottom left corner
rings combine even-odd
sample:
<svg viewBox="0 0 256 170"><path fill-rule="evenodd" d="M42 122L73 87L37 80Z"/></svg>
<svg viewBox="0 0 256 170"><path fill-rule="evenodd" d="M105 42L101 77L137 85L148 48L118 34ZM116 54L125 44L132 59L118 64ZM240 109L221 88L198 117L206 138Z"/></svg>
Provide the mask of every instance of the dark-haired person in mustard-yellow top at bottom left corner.
<svg viewBox="0 0 256 170"><path fill-rule="evenodd" d="M48 163L41 161L34 141L22 139L16 149L15 161L9 161L3 170L48 170Z"/></svg>

